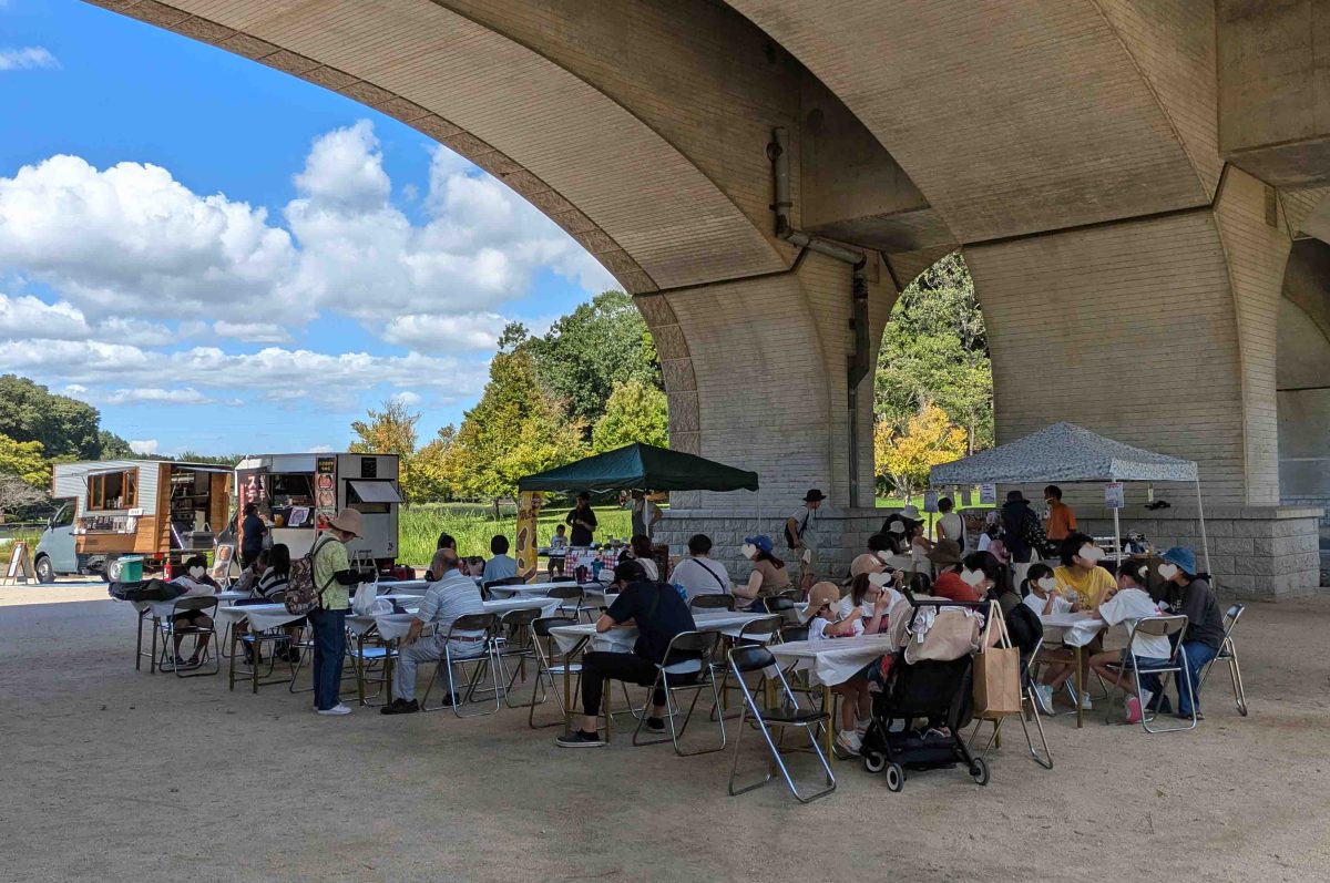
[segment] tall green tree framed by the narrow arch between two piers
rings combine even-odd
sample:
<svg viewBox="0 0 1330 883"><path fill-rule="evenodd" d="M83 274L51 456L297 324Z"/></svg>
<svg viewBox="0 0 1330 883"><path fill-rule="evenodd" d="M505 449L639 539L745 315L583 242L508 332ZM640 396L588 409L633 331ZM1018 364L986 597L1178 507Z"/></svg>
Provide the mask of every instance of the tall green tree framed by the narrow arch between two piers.
<svg viewBox="0 0 1330 883"><path fill-rule="evenodd" d="M874 378L876 419L903 432L926 403L966 431L968 451L992 445L987 330L959 251L900 293L882 335Z"/></svg>

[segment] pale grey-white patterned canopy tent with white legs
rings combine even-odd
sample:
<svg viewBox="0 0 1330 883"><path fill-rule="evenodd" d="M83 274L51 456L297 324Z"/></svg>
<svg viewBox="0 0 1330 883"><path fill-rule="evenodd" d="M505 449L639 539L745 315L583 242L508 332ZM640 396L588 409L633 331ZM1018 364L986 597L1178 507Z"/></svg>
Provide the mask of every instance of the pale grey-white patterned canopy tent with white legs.
<svg viewBox="0 0 1330 883"><path fill-rule="evenodd" d="M1196 487L1205 568L1210 568L1210 544L1205 536L1201 479L1193 460L1154 453L1105 439L1073 423L1055 423L1001 447L935 465L928 472L934 487L948 484L1053 484L1107 481L1185 481ZM1119 560L1123 529L1113 509L1113 537Z"/></svg>

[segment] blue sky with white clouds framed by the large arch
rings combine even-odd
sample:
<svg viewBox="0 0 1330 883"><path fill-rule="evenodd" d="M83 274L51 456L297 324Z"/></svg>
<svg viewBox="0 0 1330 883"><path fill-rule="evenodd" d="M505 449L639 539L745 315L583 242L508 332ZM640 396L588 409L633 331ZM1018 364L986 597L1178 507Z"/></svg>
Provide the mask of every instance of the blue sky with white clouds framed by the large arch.
<svg viewBox="0 0 1330 883"><path fill-rule="evenodd" d="M427 440L503 322L613 279L504 185L336 93L77 0L0 0L0 371L145 451Z"/></svg>

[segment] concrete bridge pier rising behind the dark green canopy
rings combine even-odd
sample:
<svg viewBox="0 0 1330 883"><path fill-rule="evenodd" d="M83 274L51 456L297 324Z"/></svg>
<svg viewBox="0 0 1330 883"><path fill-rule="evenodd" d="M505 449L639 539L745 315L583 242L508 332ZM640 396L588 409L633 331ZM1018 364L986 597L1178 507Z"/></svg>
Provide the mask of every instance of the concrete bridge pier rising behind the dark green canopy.
<svg viewBox="0 0 1330 883"><path fill-rule="evenodd" d="M896 293L876 263L868 277L871 364L859 387L858 500L850 484L847 265L807 254L787 273L636 298L665 374L670 444L753 469L762 487L761 516L753 493L672 493L664 528L676 555L690 533L702 531L726 547L717 557L737 556L758 517L779 543L781 521L809 488L830 496L827 544L839 548L846 519L872 505L872 370Z"/></svg>

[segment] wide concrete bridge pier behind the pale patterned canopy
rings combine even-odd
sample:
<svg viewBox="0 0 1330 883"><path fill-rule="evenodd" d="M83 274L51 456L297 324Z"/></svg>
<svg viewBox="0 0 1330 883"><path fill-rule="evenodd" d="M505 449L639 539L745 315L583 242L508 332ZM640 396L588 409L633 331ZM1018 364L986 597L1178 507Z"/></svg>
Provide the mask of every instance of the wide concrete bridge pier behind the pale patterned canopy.
<svg viewBox="0 0 1330 883"><path fill-rule="evenodd" d="M1226 521L1218 531L1298 535L1264 547L1262 573L1236 547L1212 560L1221 586L1266 597L1319 581L1314 536L1301 536L1314 517L1278 505L1275 330L1291 237L1274 195L1230 168L1209 207L966 249L992 348L998 442L1069 420L1196 460L1206 515ZM1189 488L1157 491L1193 505ZM1144 488L1128 499L1144 504ZM1109 515L1099 491L1071 500L1091 524ZM1128 512L1124 529L1145 524L1146 511ZM1152 527L1157 544L1200 539Z"/></svg>

